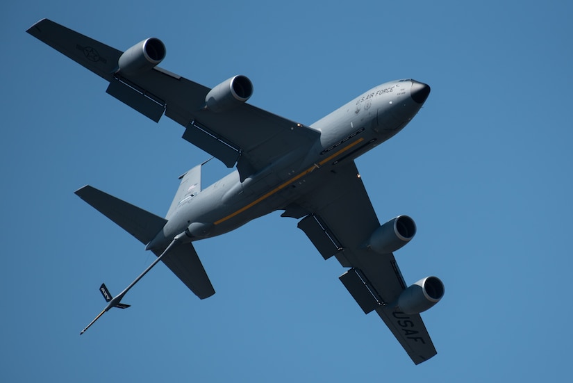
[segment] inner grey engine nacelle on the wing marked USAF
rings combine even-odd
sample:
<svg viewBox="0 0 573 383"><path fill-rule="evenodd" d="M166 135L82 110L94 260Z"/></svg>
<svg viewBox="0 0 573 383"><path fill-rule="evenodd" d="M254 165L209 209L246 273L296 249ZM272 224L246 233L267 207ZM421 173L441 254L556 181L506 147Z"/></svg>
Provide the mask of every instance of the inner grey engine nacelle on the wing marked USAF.
<svg viewBox="0 0 573 383"><path fill-rule="evenodd" d="M368 247L379 254L395 252L416 234L416 224L408 215L392 218L372 233Z"/></svg>

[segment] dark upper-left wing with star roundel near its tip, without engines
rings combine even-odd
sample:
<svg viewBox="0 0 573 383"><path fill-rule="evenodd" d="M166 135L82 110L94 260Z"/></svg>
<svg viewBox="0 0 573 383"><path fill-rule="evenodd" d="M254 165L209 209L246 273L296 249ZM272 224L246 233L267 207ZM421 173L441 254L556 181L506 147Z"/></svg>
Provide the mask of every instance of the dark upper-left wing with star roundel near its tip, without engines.
<svg viewBox="0 0 573 383"><path fill-rule="evenodd" d="M107 92L156 122L165 113L185 127L183 138L231 168L241 178L294 149L308 150L319 132L249 104L221 113L205 110L210 88L160 67L141 74L118 72L124 52L49 19L28 33L110 82ZM263 145L264 144L264 145Z"/></svg>

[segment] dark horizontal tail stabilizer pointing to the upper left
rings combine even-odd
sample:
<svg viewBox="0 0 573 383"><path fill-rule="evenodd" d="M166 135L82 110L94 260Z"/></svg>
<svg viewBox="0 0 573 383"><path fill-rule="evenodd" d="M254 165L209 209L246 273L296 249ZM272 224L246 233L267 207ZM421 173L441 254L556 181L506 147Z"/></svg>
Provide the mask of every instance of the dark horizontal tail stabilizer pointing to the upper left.
<svg viewBox="0 0 573 383"><path fill-rule="evenodd" d="M76 190L75 193L144 245L155 238L167 223L164 218L89 185Z"/></svg>

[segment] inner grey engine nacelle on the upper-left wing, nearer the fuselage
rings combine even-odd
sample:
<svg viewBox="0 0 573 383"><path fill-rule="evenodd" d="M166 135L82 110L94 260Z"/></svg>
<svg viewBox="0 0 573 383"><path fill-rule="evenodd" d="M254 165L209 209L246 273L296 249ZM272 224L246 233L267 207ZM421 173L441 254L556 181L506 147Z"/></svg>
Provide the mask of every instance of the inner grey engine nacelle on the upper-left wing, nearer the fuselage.
<svg viewBox="0 0 573 383"><path fill-rule="evenodd" d="M253 95L253 83L247 76L234 76L211 89L205 104L213 112L229 111L247 101Z"/></svg>

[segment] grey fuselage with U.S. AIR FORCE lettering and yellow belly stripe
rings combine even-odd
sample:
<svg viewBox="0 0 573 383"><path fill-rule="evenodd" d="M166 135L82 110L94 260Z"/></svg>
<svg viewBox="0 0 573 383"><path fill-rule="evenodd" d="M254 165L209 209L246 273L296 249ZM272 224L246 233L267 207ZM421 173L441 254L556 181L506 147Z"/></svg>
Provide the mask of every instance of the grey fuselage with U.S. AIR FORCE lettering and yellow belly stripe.
<svg viewBox="0 0 573 383"><path fill-rule="evenodd" d="M321 174L335 171L398 133L429 92L428 85L410 79L372 88L310 126L320 132L310 151L289 153L242 182L235 170L185 199L147 250L164 249L182 232L197 241L285 209L313 190ZM299 218L297 212L285 215Z"/></svg>

